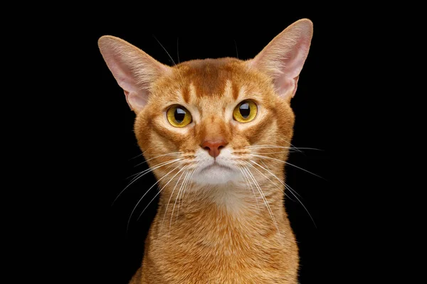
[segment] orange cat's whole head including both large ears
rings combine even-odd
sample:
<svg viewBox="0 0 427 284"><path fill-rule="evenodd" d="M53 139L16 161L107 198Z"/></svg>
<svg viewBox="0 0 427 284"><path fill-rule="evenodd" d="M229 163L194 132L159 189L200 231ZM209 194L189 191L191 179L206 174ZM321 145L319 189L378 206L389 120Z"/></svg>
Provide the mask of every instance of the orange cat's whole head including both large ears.
<svg viewBox="0 0 427 284"><path fill-rule="evenodd" d="M250 180L260 167L283 175L280 161L288 156L294 124L290 100L311 38L312 22L302 19L252 60L174 67L110 35L98 45L137 115L135 135L157 179L184 175L199 185L222 185Z"/></svg>

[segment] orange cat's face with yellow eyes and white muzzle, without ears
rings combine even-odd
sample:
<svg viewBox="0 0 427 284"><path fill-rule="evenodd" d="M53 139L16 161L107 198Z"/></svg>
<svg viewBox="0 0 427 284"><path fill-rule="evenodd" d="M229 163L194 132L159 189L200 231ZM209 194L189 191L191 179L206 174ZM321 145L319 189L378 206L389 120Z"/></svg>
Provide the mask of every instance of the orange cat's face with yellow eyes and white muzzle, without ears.
<svg viewBox="0 0 427 284"><path fill-rule="evenodd" d="M217 185L241 182L248 163L261 164L251 146L290 146L293 123L289 99L248 62L195 60L154 84L135 134L150 166L181 159L158 178L185 167L192 182Z"/></svg>

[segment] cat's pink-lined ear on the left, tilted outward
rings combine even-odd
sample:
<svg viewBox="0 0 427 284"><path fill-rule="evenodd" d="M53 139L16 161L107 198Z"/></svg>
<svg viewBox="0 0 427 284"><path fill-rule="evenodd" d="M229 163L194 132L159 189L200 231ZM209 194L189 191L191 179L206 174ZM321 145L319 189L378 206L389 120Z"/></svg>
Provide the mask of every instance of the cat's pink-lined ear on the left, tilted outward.
<svg viewBox="0 0 427 284"><path fill-rule="evenodd" d="M127 104L136 113L147 104L152 82L172 72L171 67L120 38L104 35L98 46L117 84L125 91Z"/></svg>

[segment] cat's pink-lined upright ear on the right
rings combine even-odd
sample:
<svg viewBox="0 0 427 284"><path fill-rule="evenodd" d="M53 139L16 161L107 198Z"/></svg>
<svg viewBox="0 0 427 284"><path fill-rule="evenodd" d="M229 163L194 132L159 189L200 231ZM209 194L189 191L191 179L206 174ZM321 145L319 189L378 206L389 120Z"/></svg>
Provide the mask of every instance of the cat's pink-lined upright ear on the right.
<svg viewBox="0 0 427 284"><path fill-rule="evenodd" d="M312 22L304 18L277 35L248 64L273 79L275 89L285 99L294 97L302 66L310 49Z"/></svg>

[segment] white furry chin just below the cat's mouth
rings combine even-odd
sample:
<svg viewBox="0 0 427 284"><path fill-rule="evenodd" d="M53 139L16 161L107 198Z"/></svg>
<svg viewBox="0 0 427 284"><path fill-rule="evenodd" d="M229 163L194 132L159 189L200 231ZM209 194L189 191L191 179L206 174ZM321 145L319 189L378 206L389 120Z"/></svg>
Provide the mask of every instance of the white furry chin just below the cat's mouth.
<svg viewBox="0 0 427 284"><path fill-rule="evenodd" d="M238 180L238 173L222 165L210 165L194 173L192 180L199 185L223 185Z"/></svg>

